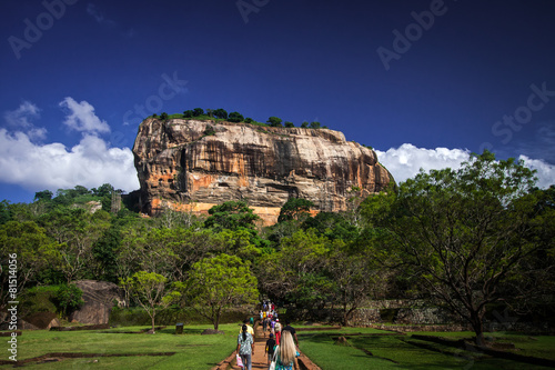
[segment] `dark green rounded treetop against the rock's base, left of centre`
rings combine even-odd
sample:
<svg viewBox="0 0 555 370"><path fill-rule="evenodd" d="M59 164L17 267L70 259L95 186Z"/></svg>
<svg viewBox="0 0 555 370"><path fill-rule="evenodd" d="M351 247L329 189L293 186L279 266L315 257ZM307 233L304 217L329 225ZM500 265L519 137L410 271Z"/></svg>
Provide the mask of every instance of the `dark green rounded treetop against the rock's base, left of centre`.
<svg viewBox="0 0 555 370"><path fill-rule="evenodd" d="M249 208L249 204L242 200L232 200L214 206L209 210L209 214L210 217L204 221L204 227L214 229L216 232L223 229L254 229L254 221L260 219Z"/></svg>

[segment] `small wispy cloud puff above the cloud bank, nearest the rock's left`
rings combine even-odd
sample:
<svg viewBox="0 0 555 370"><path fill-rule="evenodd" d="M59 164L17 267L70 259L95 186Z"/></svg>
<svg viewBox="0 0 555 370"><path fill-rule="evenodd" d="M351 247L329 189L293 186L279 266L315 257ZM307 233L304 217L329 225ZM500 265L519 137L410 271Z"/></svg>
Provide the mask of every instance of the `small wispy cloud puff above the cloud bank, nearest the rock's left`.
<svg viewBox="0 0 555 370"><path fill-rule="evenodd" d="M108 123L94 114L94 107L87 101L78 103L73 98L67 97L60 102L60 107L70 111L63 121L70 129L91 133L110 132Z"/></svg>

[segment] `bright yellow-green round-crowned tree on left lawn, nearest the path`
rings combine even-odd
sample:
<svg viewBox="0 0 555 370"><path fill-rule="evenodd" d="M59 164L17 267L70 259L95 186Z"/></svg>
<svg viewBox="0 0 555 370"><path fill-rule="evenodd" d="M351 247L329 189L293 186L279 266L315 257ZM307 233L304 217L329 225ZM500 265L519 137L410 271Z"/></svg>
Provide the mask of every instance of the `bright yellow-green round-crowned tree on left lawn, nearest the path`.
<svg viewBox="0 0 555 370"><path fill-rule="evenodd" d="M218 330L222 309L258 301L256 278L249 262L236 256L220 254L196 262L186 282L186 292L194 309Z"/></svg>

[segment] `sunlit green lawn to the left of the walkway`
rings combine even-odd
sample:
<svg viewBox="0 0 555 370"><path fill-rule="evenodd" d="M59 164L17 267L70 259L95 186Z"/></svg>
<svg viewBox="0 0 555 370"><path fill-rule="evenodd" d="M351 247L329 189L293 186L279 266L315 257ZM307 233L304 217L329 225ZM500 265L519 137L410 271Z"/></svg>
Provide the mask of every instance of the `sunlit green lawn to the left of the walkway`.
<svg viewBox="0 0 555 370"><path fill-rule="evenodd" d="M131 327L99 331L23 331L18 338L18 359L34 358L50 352L85 353L154 353L176 352L164 357L98 357L64 359L60 362L26 364L30 369L210 369L234 349L239 323L222 324L225 334L201 336L210 326L188 326L184 334L175 336L174 327L155 334L119 333L138 331ZM8 360L6 356L2 360ZM94 362L97 360L97 362ZM1 366L0 369L11 368Z"/></svg>

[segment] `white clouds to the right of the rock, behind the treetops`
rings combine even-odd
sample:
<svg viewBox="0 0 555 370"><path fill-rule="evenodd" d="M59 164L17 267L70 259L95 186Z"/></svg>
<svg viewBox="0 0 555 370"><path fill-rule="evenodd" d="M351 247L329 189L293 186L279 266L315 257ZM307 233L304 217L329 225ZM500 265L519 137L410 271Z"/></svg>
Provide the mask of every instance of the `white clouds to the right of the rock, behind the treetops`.
<svg viewBox="0 0 555 370"><path fill-rule="evenodd" d="M390 170L397 183L415 177L420 169L428 172L443 168L457 169L461 163L470 159L470 151L461 149L417 148L411 143L404 143L398 148L391 148L387 151L375 150L380 162ZM555 166L544 160L531 159L521 156L525 166L537 170L537 187L548 188L555 184Z"/></svg>

